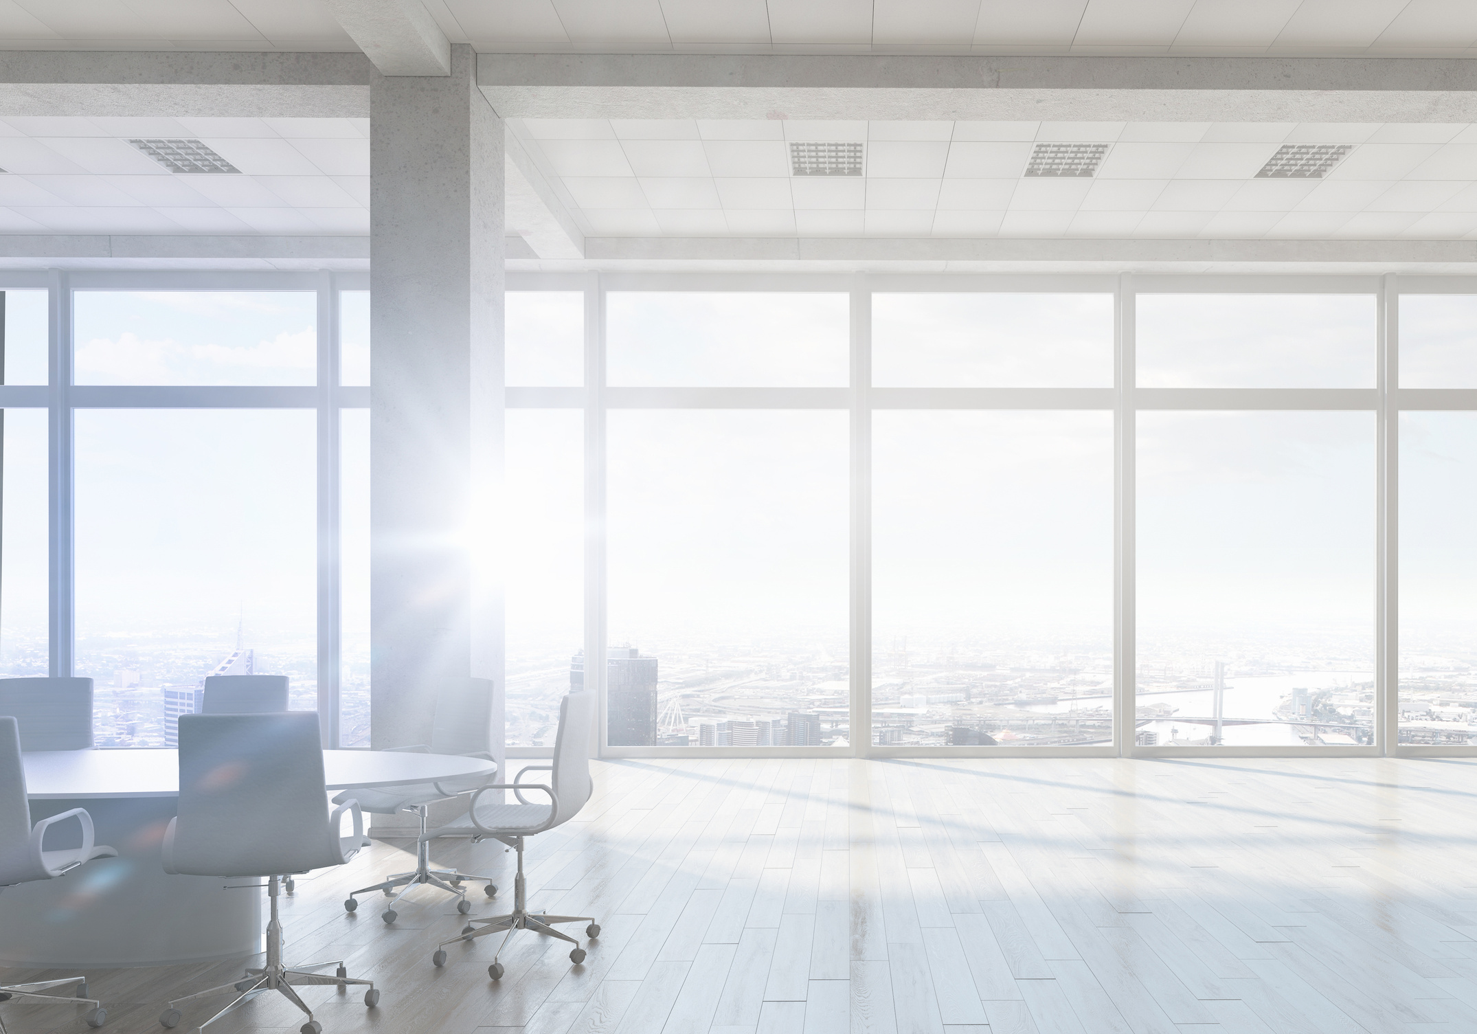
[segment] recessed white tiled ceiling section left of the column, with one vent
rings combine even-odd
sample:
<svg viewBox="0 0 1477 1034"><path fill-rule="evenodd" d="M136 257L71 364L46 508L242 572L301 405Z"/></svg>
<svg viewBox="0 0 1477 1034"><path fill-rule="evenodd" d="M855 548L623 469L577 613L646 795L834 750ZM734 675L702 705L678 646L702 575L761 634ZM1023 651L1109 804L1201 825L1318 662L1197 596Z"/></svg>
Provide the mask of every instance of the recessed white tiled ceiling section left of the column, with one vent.
<svg viewBox="0 0 1477 1034"><path fill-rule="evenodd" d="M128 137L202 140L241 170L170 173ZM0 233L363 235L368 118L0 120Z"/></svg>

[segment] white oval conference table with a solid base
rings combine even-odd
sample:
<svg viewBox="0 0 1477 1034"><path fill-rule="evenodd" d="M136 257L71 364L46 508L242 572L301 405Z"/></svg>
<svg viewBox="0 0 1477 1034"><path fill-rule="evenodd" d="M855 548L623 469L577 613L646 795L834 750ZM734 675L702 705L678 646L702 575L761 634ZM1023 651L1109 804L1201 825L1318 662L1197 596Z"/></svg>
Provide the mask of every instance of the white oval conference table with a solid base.
<svg viewBox="0 0 1477 1034"><path fill-rule="evenodd" d="M261 892L226 889L257 880L164 872L160 845L179 796L176 750L37 750L24 759L31 821L86 808L96 842L117 848L118 857L6 888L0 965L160 966L260 950ZM409 786L496 768L436 753L323 750L323 789ZM344 823L347 832L347 817ZM75 830L75 823L55 826L47 848L78 843L65 839Z"/></svg>

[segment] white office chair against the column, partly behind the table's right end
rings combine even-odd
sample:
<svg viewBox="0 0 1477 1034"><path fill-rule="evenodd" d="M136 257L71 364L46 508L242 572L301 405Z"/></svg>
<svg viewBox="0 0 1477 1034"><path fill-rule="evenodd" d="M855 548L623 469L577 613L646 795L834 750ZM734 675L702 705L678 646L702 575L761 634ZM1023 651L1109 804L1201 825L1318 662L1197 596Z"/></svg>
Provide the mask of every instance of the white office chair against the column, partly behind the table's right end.
<svg viewBox="0 0 1477 1034"><path fill-rule="evenodd" d="M436 718L431 724L431 743L409 747L390 747L390 750L409 750L415 753L453 753L464 758L482 758L492 761L489 736L492 731L492 699L493 687L490 678L468 678L442 687L436 697ZM462 793L470 793L487 786L495 773L486 776L458 776L439 783L415 783L412 786L387 786L384 789L346 790L334 798L334 804L346 801L350 793L359 801L359 807L377 815L393 815L399 811L412 811L421 818L419 839L415 842L415 869L408 873L391 873L381 883L359 888L344 900L344 910L359 908L359 894L380 891L387 898L393 898L380 917L385 923L393 923L400 913L394 910L412 888L434 886L449 894L455 894L456 911L467 914L471 911L471 901L462 889L462 880L486 880L482 888L490 898L498 892L492 876L476 876L459 873L455 869L431 869L430 840L427 836L427 809L437 801L448 801ZM396 894L396 888L400 892Z"/></svg>

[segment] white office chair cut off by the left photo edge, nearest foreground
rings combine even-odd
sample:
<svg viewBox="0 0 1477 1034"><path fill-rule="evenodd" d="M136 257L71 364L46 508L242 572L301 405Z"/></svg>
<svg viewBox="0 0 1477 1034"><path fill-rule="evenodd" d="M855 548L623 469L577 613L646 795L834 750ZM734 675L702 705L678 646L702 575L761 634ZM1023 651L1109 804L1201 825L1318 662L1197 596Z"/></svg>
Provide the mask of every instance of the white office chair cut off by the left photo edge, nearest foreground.
<svg viewBox="0 0 1477 1034"><path fill-rule="evenodd" d="M83 845L65 851L47 851L41 843L46 839L46 830L68 818L75 818L83 827ZM117 854L112 848L93 843L92 815L84 808L72 808L31 826L31 805L25 796L25 767L21 759L18 722L10 716L0 718L0 886L56 879L93 858L112 858ZM41 991L64 984L77 985L75 999L41 994ZM0 1002L12 999L50 1004L90 1004L92 1012L86 1016L89 1027L102 1027L108 1021L108 1012L102 1003L87 997L86 976L0 985ZM0 1034L4 1034L4 1016L0 1016Z"/></svg>

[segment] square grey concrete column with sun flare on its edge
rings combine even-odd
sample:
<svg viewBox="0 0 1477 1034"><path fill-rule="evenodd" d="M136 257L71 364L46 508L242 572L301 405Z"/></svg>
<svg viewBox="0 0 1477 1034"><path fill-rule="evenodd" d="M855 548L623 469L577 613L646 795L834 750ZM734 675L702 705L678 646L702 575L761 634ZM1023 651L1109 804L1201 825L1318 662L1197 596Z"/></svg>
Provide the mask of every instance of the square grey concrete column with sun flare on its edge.
<svg viewBox="0 0 1477 1034"><path fill-rule="evenodd" d="M456 44L450 75L371 72L375 749L430 743L446 681L502 691L486 557L502 455L504 130L476 65ZM493 737L501 747L501 724Z"/></svg>

